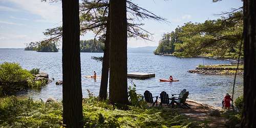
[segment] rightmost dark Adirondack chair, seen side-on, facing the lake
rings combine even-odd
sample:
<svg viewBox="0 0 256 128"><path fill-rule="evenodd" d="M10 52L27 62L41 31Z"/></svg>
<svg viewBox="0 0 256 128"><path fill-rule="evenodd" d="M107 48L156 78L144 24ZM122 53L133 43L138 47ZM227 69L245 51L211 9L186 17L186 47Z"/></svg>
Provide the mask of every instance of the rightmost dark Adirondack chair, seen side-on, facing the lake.
<svg viewBox="0 0 256 128"><path fill-rule="evenodd" d="M172 101L170 102L170 104L174 106L174 103L176 103L177 105L181 106L181 108L183 109L185 108L190 109L190 106L186 103L188 94L189 92L186 91L185 93L184 92L180 93L179 97L172 97L171 98Z"/></svg>

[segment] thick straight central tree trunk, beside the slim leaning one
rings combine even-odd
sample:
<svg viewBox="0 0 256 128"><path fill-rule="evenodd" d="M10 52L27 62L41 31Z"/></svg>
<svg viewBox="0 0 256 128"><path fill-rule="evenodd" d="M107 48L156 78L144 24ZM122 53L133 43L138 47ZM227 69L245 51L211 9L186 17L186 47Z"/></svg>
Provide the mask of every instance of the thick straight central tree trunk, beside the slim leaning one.
<svg viewBox="0 0 256 128"><path fill-rule="evenodd" d="M126 0L110 0L110 101L128 103Z"/></svg>

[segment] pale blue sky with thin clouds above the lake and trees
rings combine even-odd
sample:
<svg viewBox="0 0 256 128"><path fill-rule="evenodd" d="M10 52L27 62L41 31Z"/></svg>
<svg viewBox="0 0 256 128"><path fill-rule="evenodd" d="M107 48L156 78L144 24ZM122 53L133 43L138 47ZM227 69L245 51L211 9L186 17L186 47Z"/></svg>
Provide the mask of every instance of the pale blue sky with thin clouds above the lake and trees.
<svg viewBox="0 0 256 128"><path fill-rule="evenodd" d="M242 7L240 0L137 0L139 6L166 18L170 23L145 20L144 29L154 33L154 41L129 39L128 47L157 46L163 33L173 31L186 22L204 22L216 19L216 13ZM41 3L41 0L1 0L0 1L0 48L24 48L25 43L40 41L46 29L61 25L61 4ZM88 33L81 39L91 39Z"/></svg>

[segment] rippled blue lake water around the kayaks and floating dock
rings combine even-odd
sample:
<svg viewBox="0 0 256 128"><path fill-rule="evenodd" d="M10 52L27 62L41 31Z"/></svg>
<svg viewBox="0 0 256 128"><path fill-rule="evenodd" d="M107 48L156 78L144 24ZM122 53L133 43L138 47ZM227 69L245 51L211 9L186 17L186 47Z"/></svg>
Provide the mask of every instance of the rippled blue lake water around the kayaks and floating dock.
<svg viewBox="0 0 256 128"><path fill-rule="evenodd" d="M40 91L28 90L18 94L33 99L46 100L49 97L62 99L62 87L55 82L62 79L61 52L39 53L24 50L0 50L0 63L5 61L18 62L25 69L39 68L40 71L49 73L49 78L55 81ZM103 53L81 53L81 74L101 75L101 62L91 59L92 56L103 56ZM181 90L189 91L189 99L197 100L209 105L220 106L226 93L231 95L234 76L231 75L203 75L188 73L199 64L213 65L229 63L228 61L208 58L178 58L174 56L159 56L153 53L128 53L128 72L155 73L156 77L138 80L133 79L137 85L137 93L143 94L145 90L152 92L153 96L162 91L168 94L177 94ZM178 82L159 82L160 78L168 78L172 75ZM130 80L129 80L130 81ZM94 81L91 78L82 77L82 94L87 97L87 89L98 95L100 79ZM243 77L238 76L234 97L243 93ZM129 85L131 83L129 82Z"/></svg>

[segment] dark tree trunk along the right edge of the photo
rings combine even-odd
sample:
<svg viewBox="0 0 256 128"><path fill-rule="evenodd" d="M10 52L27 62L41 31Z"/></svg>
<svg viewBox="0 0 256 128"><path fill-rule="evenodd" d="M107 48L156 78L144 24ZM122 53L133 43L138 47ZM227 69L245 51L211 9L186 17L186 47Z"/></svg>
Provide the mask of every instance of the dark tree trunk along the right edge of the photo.
<svg viewBox="0 0 256 128"><path fill-rule="evenodd" d="M256 127L256 1L244 0L244 106L241 127Z"/></svg>

